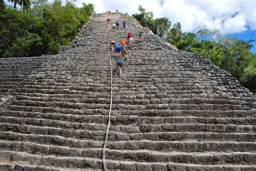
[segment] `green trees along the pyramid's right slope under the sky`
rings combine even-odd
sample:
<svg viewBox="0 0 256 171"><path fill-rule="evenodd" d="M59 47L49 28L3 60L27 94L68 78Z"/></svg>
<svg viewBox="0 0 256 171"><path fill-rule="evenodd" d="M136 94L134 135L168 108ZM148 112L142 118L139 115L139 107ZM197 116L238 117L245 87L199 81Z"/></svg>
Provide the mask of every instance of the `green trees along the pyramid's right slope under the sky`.
<svg viewBox="0 0 256 171"><path fill-rule="evenodd" d="M218 29L210 30L206 26L196 33L182 32L179 22L171 26L171 21L164 18L153 18L139 6L139 14L132 15L142 26L150 28L166 42L180 50L200 52L204 58L231 73L240 83L256 93L256 54L251 52L255 41L241 40L220 34Z"/></svg>

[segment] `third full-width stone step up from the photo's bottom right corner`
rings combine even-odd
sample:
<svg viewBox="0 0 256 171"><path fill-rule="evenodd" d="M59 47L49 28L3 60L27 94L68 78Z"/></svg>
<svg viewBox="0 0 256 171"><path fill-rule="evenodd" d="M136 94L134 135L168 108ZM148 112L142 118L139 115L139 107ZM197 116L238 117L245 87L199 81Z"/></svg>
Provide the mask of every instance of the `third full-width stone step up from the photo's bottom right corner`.
<svg viewBox="0 0 256 171"><path fill-rule="evenodd" d="M57 145L70 148L103 148L103 141L78 140L63 138L61 136L52 135L33 135L20 134L13 132L1 132L2 141L26 141L35 143L36 145ZM133 141L109 141L107 148L109 149L148 149L161 152L177 151L177 152L255 152L255 142L237 142L237 141L150 141L150 140L133 140Z"/></svg>

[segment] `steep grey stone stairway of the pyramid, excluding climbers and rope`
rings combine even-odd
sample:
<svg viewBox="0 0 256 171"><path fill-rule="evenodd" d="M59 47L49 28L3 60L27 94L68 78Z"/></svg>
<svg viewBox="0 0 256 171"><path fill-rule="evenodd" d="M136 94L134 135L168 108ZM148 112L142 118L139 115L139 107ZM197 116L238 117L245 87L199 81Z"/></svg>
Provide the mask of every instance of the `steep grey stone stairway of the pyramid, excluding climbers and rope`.
<svg viewBox="0 0 256 171"><path fill-rule="evenodd" d="M0 59L0 170L101 169L111 39L136 41L119 77L108 169L255 170L255 97L198 53L175 50L122 13L98 14L55 56ZM145 42L138 32L144 29ZM111 52L112 70L116 62Z"/></svg>

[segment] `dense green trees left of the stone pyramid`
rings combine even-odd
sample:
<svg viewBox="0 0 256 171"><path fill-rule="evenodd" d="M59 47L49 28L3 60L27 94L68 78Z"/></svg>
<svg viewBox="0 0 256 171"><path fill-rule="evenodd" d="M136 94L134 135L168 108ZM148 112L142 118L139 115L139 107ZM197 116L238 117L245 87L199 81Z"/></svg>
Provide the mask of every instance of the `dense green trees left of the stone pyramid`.
<svg viewBox="0 0 256 171"><path fill-rule="evenodd" d="M68 45L93 13L92 4L77 8L71 2L34 3L14 1L23 8L6 6L0 0L0 57L29 57L56 54ZM23 3L21 3L23 2Z"/></svg>

